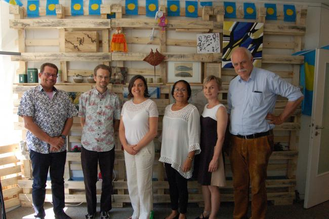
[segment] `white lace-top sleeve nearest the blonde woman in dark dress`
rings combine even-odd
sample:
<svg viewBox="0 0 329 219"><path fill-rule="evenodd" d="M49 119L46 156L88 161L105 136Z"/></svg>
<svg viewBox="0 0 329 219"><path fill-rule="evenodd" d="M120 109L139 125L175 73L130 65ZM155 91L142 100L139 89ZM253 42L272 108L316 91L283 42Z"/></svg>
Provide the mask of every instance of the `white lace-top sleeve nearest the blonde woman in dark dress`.
<svg viewBox="0 0 329 219"><path fill-rule="evenodd" d="M200 115L197 108L193 108L188 120L188 152L200 154Z"/></svg>

